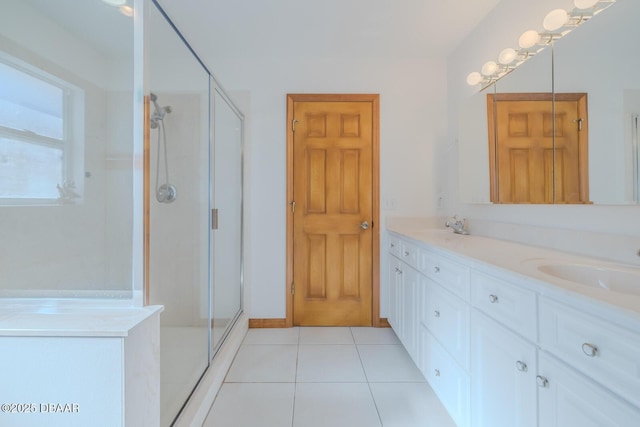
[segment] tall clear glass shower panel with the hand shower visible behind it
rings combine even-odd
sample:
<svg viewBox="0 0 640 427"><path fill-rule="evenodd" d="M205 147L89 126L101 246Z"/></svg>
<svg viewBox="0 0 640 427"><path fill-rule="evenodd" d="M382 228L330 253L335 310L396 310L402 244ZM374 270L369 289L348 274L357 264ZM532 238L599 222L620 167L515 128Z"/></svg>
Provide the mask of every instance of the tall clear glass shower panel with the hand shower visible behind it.
<svg viewBox="0 0 640 427"><path fill-rule="evenodd" d="M147 15L148 303L160 316L161 420L209 365L209 73L154 6Z"/></svg>

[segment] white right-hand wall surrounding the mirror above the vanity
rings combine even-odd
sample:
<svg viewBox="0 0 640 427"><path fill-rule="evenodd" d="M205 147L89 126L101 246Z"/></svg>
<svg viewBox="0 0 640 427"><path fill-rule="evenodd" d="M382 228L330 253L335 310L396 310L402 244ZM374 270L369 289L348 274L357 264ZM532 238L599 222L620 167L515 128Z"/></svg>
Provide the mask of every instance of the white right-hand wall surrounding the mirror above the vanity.
<svg viewBox="0 0 640 427"><path fill-rule="evenodd" d="M541 29L545 13L556 7L558 2L552 0L539 2L504 0L449 56L447 60L449 127L447 145L451 149L446 159L449 168L439 175L439 182L446 187L447 195L443 212L457 212L466 216L472 227L476 225L475 231L478 233L486 231L482 228L483 224L495 221L533 226L531 228L533 233L536 232L535 227L548 227L553 231L549 233L550 239L546 242L536 240L537 244L549 246L557 244L563 249L580 249L580 246L589 246L584 244L587 242L585 233L570 233L572 237L564 243L552 241L551 237L563 235L565 233L563 230L588 231L603 238L626 236L631 239L630 245L624 249L624 253L619 253L616 257L620 255L618 258L624 258L625 261L640 263L640 258L636 256L635 251L632 251L635 243L637 243L636 250L640 248L640 222L637 220L640 207L638 206L480 205L458 202L458 114L475 90L466 85L466 75L478 70L484 61L497 57L498 52L503 48L517 46L517 37L525 30ZM533 11L533 8L536 10ZM535 235L531 234L530 237L534 240ZM562 246L565 243L572 245ZM595 256L609 255L608 248L600 246L591 249Z"/></svg>

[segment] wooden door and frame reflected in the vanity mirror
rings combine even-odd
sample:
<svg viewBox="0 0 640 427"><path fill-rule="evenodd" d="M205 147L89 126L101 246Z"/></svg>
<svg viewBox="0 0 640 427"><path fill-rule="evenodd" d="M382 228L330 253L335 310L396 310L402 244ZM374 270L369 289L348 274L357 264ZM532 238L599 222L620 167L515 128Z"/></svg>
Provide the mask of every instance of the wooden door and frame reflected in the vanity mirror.
<svg viewBox="0 0 640 427"><path fill-rule="evenodd" d="M493 203L590 203L586 94L489 94L487 117Z"/></svg>

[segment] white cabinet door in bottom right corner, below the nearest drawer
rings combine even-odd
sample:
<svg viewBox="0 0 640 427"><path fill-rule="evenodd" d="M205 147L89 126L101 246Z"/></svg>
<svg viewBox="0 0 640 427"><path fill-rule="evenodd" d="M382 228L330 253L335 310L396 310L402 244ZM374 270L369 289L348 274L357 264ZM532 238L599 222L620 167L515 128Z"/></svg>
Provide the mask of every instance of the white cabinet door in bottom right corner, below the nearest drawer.
<svg viewBox="0 0 640 427"><path fill-rule="evenodd" d="M541 426L630 427L640 422L640 409L544 352L539 373Z"/></svg>

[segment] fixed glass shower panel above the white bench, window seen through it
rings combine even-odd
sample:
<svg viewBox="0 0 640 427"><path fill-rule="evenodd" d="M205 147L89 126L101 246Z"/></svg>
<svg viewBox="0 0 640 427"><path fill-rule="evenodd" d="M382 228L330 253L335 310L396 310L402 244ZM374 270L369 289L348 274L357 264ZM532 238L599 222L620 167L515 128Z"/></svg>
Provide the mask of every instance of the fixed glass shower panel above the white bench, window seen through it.
<svg viewBox="0 0 640 427"><path fill-rule="evenodd" d="M0 295L131 298L131 10L0 9Z"/></svg>

